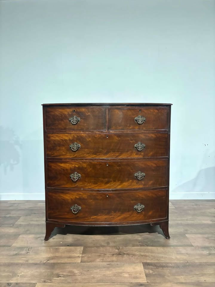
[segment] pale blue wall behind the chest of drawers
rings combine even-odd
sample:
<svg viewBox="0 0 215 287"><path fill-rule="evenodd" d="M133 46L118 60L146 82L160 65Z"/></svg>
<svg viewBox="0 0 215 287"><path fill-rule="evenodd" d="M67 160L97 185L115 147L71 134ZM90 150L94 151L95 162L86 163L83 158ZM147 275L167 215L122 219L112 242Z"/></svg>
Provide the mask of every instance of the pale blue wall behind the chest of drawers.
<svg viewBox="0 0 215 287"><path fill-rule="evenodd" d="M1 6L0 198L44 199L41 103L173 103L170 197L215 197L215 1Z"/></svg>

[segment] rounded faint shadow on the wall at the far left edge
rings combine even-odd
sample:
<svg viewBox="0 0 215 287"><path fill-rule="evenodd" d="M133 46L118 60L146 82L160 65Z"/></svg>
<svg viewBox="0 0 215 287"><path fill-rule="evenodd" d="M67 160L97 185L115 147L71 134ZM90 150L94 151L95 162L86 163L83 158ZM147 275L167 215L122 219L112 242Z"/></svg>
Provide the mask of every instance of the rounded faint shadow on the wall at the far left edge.
<svg viewBox="0 0 215 287"><path fill-rule="evenodd" d="M0 126L0 165L4 174L12 171L14 165L20 162L21 143L19 137L10 128Z"/></svg>

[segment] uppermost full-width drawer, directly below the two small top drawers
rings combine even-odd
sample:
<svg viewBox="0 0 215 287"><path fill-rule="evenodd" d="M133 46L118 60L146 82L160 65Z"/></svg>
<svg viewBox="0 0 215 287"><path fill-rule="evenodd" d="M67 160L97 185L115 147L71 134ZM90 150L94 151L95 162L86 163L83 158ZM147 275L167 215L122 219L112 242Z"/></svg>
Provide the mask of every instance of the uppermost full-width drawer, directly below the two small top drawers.
<svg viewBox="0 0 215 287"><path fill-rule="evenodd" d="M46 152L54 158L167 157L168 133L47 134Z"/></svg>

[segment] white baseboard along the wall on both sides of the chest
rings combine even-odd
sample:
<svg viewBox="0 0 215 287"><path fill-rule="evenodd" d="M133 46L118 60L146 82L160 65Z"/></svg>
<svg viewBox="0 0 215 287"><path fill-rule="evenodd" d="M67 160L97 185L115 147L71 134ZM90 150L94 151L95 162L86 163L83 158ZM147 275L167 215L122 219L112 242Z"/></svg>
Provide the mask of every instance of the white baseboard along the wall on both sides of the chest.
<svg viewBox="0 0 215 287"><path fill-rule="evenodd" d="M170 192L171 199L215 199L215 192ZM45 200L45 193L0 193L0 200Z"/></svg>

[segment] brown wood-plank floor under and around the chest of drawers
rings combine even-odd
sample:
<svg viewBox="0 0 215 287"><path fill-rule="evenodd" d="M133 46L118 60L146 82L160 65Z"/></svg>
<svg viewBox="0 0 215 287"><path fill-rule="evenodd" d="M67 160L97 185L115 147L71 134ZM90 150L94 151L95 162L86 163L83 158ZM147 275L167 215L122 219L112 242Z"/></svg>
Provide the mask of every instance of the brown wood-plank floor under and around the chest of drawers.
<svg viewBox="0 0 215 287"><path fill-rule="evenodd" d="M45 242L44 201L0 201L0 287L215 286L214 207L172 200L169 240L159 226L66 226Z"/></svg>

